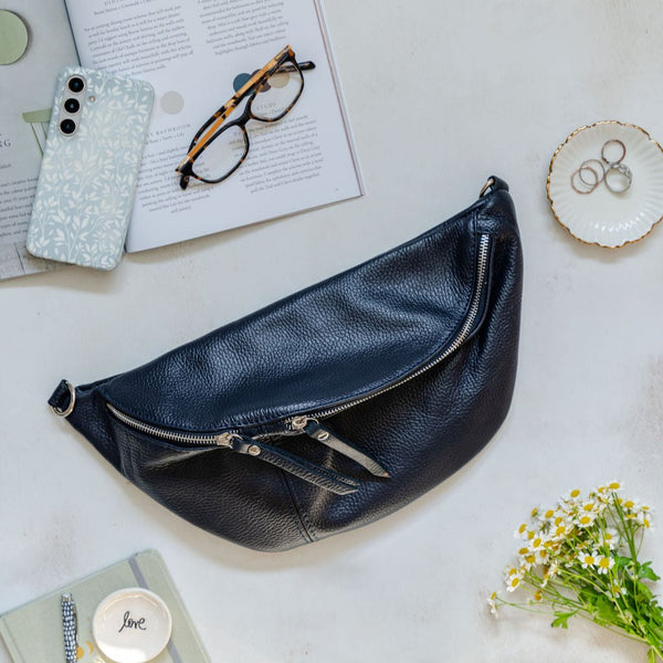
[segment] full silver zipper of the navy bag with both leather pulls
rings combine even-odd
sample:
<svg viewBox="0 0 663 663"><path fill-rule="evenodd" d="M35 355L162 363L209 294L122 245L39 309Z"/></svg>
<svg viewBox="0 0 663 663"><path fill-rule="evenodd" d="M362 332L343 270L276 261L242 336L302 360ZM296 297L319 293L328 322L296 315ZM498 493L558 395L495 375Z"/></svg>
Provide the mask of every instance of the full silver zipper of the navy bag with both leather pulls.
<svg viewBox="0 0 663 663"><path fill-rule="evenodd" d="M291 414L275 421L256 422L250 427L224 430L218 433L192 433L156 427L118 410L109 402L106 403L108 411L119 422L150 438L156 438L185 448L209 446L212 449L215 446L236 453L248 454L276 465L292 474L296 474L309 483L314 483L315 485L341 495L356 492L359 482L335 472L334 470L316 465L305 459L296 456L282 446L269 444L265 440L274 436L305 434L312 440L325 444L329 449L351 459L368 470L373 476L387 478L389 477L389 472L378 461L366 454L355 444L337 435L328 427L320 423L320 420L328 419L360 403L368 402L420 377L450 357L470 338L481 319L482 311L485 308L491 235L482 233L478 236L477 243L474 286L467 307L467 314L461 323L456 334L434 357L427 360L422 366L419 366L406 376L402 376L372 392L335 406L329 406L318 411ZM260 431L260 433L255 433L255 431Z"/></svg>

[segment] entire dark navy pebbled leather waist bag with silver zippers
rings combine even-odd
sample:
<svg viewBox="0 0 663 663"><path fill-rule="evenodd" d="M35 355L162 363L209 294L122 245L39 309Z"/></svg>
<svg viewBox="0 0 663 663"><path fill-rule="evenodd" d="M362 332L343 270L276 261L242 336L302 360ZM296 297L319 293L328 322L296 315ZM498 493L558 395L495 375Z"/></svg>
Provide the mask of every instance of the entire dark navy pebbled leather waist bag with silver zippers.
<svg viewBox="0 0 663 663"><path fill-rule="evenodd" d="M474 456L514 387L508 187L352 270L50 399L124 476L211 533L284 550L406 505Z"/></svg>

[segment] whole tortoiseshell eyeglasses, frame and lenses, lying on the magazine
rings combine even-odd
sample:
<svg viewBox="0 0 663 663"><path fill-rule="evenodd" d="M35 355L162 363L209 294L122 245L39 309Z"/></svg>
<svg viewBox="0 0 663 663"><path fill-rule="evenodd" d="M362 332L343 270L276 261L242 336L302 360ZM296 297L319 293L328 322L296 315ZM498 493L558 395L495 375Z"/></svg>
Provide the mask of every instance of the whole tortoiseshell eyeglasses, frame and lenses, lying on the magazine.
<svg viewBox="0 0 663 663"><path fill-rule="evenodd" d="M191 177L214 185L231 176L249 154L246 123L283 118L302 96L302 72L313 69L313 62L297 62L290 46L276 53L198 129L186 158L176 168L181 175L180 187L186 189ZM249 101L242 115L224 125L225 118L246 96Z"/></svg>

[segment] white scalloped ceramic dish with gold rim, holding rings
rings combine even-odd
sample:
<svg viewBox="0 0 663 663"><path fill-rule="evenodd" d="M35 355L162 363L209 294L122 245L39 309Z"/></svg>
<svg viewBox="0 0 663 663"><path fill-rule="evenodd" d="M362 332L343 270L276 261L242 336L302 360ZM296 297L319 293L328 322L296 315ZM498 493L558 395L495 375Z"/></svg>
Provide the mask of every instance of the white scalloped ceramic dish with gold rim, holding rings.
<svg viewBox="0 0 663 663"><path fill-rule="evenodd" d="M604 183L589 194L575 191L572 173L585 160L600 159L612 139L627 147L622 162L633 173L631 187L623 193ZM552 155L547 192L555 218L577 240L610 249L636 242L663 218L663 149L635 125L607 120L581 127Z"/></svg>

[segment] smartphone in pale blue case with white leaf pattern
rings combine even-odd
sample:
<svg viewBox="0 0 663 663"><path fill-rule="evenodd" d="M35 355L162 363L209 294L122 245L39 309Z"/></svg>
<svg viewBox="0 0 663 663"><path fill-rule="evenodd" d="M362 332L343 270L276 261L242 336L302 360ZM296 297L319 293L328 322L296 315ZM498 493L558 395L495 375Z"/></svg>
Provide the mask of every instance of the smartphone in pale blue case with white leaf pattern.
<svg viewBox="0 0 663 663"><path fill-rule="evenodd" d="M28 228L30 253L117 266L152 97L144 81L80 66L60 73Z"/></svg>

